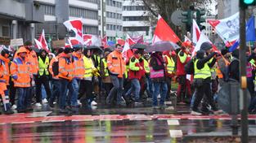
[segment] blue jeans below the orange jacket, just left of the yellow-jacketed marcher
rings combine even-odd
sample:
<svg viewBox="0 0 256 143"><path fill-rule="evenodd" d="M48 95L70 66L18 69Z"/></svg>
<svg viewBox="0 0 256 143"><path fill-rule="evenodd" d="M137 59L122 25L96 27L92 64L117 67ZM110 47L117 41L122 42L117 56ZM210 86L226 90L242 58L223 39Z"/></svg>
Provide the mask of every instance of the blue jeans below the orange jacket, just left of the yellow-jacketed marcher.
<svg viewBox="0 0 256 143"><path fill-rule="evenodd" d="M69 101L71 106L78 106L78 97L79 97L79 85L80 85L80 80L79 79L74 79L72 80L72 86L73 86L73 91L69 91Z"/></svg>

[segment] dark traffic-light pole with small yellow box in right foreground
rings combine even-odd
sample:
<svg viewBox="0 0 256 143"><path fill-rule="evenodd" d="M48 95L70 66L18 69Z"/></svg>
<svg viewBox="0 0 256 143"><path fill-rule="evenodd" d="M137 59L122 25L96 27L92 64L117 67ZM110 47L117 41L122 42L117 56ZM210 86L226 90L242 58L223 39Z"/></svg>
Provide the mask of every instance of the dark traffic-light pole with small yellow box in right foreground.
<svg viewBox="0 0 256 143"><path fill-rule="evenodd" d="M246 93L246 62L245 57L245 7L240 1L240 85L242 92L240 93L240 110L241 110L241 141L248 142L248 110L247 110L247 93Z"/></svg>

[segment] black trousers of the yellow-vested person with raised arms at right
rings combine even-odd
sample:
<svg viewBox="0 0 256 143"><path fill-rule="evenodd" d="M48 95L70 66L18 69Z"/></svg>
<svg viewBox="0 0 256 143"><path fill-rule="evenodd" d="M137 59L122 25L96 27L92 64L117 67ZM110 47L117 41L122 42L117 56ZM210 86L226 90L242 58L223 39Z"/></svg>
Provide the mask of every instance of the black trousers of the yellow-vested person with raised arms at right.
<svg viewBox="0 0 256 143"><path fill-rule="evenodd" d="M212 106L213 111L218 111L214 101L213 101L213 95L212 95L212 90L210 83L205 82L203 85L196 87L195 90L195 102L193 105L192 110L193 111L198 111L198 106L202 100L202 98L205 98L209 102L209 105Z"/></svg>

